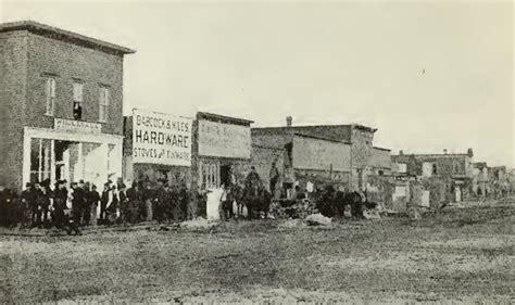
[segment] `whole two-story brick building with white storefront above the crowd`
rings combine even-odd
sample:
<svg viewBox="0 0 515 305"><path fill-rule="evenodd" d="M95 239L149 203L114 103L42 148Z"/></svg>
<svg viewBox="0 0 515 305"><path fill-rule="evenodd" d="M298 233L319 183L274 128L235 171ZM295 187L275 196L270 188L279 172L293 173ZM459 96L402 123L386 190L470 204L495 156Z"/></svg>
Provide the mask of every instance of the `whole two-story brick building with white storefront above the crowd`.
<svg viewBox="0 0 515 305"><path fill-rule="evenodd" d="M122 177L134 50L35 22L0 25L0 185Z"/></svg>

